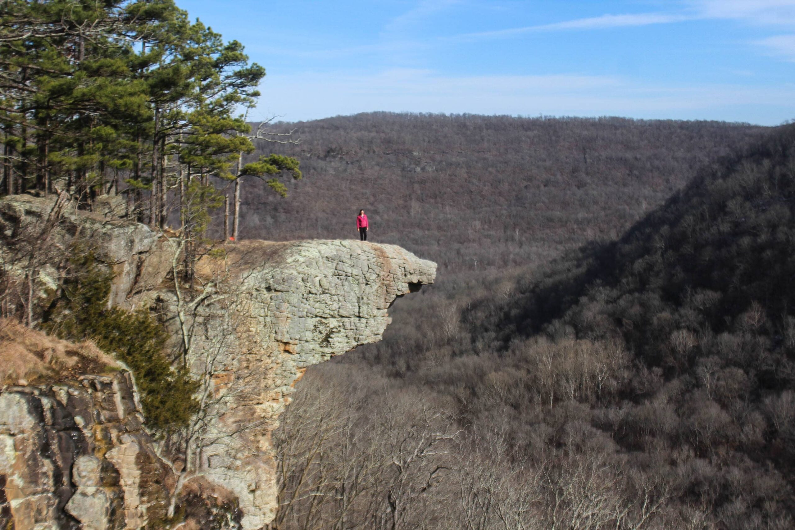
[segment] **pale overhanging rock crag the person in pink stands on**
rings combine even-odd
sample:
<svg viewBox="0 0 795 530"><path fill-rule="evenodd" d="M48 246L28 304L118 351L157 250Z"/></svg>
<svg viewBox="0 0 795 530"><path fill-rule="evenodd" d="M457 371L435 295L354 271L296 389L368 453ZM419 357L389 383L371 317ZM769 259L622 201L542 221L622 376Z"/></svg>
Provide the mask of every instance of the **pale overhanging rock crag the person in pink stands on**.
<svg viewBox="0 0 795 530"><path fill-rule="evenodd" d="M215 266L217 277L219 265L204 273ZM189 464L235 493L242 528L261 528L277 500L270 431L293 385L308 366L381 339L390 304L431 283L435 264L358 241L242 242L222 270L219 303L196 319L191 367L211 381L212 399ZM157 296L173 311L173 293Z"/></svg>

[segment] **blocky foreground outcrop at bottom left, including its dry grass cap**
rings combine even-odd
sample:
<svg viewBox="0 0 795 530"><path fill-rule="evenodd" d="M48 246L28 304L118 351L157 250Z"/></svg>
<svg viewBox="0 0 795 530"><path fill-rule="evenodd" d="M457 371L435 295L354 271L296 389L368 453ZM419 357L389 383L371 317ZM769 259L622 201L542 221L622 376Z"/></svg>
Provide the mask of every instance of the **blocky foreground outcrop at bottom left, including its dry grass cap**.
<svg viewBox="0 0 795 530"><path fill-rule="evenodd" d="M0 373L0 528L142 528L165 515L173 473L123 366L0 319Z"/></svg>

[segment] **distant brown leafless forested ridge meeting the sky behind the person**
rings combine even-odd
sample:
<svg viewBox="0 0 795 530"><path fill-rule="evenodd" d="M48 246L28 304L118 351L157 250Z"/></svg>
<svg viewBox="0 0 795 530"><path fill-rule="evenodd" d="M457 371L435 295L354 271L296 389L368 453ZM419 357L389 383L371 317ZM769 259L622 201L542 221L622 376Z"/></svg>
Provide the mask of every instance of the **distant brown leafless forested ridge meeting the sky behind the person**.
<svg viewBox="0 0 795 530"><path fill-rule="evenodd" d="M695 168L763 130L720 122L358 114L279 125L301 145L259 141L297 157L306 176L281 199L242 184L245 238L370 238L451 273L543 263L618 237L684 185Z"/></svg>

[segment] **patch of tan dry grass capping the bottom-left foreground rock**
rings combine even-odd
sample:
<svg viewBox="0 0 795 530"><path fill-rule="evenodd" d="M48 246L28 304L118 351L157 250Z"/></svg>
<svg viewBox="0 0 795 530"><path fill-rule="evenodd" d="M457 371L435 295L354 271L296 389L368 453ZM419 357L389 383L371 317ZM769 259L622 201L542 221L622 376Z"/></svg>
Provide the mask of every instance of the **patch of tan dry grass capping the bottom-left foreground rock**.
<svg viewBox="0 0 795 530"><path fill-rule="evenodd" d="M91 341L56 339L10 319L0 319L0 383L27 385L107 373L118 364Z"/></svg>

